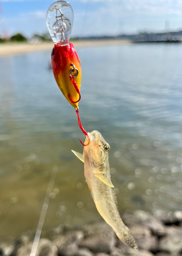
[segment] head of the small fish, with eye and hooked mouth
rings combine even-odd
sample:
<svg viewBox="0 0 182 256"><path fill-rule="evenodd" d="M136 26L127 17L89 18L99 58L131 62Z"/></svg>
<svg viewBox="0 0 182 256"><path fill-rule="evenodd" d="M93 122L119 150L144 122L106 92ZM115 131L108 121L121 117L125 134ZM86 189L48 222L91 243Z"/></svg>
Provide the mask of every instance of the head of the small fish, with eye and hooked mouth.
<svg viewBox="0 0 182 256"><path fill-rule="evenodd" d="M102 135L94 130L88 133L84 146L84 158L88 158L96 168L102 168L108 161L110 145Z"/></svg>

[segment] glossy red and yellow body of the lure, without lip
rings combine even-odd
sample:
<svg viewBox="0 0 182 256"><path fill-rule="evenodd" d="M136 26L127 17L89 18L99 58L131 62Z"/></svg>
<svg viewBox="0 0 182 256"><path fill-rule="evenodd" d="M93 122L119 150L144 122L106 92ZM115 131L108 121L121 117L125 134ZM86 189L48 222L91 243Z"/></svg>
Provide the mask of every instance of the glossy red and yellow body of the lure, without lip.
<svg viewBox="0 0 182 256"><path fill-rule="evenodd" d="M67 46L61 46L59 42L55 43L55 47L53 48L53 51L51 53L51 62L54 77L59 89L61 90L65 98L69 101L69 103L73 106L73 108L77 109L79 103L75 101L79 100L79 94L76 92L73 86L72 77L70 77L69 72L73 67L71 64L73 64L75 68L79 71L78 76L75 77L74 80L77 83L77 87L80 91L82 69L80 59L77 56L73 45L69 44ZM71 75L75 75L75 73L72 72ZM75 103L70 101L68 95L70 95L72 101L74 101Z"/></svg>

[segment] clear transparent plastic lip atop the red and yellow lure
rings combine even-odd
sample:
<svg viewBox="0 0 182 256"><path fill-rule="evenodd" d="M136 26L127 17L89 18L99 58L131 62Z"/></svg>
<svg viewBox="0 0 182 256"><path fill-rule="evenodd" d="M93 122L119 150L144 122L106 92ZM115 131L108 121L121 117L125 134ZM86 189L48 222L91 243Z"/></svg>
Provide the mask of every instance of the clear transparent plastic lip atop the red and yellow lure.
<svg viewBox="0 0 182 256"><path fill-rule="evenodd" d="M46 23L51 38L62 46L69 44L73 25L73 10L65 1L53 3L47 10Z"/></svg>

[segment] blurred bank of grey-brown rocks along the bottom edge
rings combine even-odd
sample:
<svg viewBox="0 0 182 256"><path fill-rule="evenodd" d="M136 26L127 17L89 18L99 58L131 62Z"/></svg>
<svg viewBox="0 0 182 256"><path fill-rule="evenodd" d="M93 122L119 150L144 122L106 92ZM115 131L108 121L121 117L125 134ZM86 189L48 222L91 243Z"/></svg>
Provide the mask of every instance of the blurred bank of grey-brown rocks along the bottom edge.
<svg viewBox="0 0 182 256"><path fill-rule="evenodd" d="M182 211L145 211L122 214L131 230L139 251L124 245L105 222L91 223L73 230L63 229L49 239L41 238L37 256L179 256L182 255ZM43 234L42 236L43 237ZM0 255L30 256L33 235L19 239L0 239Z"/></svg>

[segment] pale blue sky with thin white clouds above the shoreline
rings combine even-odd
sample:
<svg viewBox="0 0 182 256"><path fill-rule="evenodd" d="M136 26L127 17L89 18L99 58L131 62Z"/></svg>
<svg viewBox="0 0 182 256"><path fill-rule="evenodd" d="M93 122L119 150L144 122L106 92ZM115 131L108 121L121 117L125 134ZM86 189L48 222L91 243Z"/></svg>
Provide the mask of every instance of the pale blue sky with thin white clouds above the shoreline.
<svg viewBox="0 0 182 256"><path fill-rule="evenodd" d="M0 0L0 33L31 37L47 32L51 0ZM182 30L182 0L70 0L72 37Z"/></svg>

